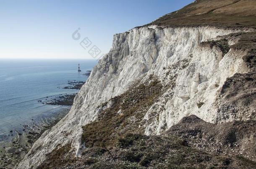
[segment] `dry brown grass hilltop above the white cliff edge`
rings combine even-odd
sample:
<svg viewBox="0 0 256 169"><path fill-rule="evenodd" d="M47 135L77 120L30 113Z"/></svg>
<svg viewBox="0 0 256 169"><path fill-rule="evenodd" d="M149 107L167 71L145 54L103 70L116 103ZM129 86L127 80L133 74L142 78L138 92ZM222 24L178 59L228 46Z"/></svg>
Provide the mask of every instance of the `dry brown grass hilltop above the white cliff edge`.
<svg viewBox="0 0 256 169"><path fill-rule="evenodd" d="M148 24L256 28L255 0L197 0Z"/></svg>

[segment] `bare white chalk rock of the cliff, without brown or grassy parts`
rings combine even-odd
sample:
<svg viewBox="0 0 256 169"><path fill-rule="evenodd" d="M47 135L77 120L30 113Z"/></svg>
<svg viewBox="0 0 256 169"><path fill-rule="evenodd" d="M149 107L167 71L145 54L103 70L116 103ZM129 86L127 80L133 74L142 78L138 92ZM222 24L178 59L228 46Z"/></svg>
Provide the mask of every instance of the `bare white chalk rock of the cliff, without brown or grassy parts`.
<svg viewBox="0 0 256 169"><path fill-rule="evenodd" d="M245 53L230 50L222 58L219 48L211 49L199 44L238 31L209 26L159 28L153 25L114 35L112 49L93 68L69 114L44 132L18 168L38 166L39 160L43 161L46 154L57 145L71 144L72 149L76 150L75 155L80 156L84 148L81 145L82 126L97 119L100 112L98 106L124 93L131 84L145 80L151 74L157 76L163 84L170 84L172 75L177 75L177 80L175 87L169 88L154 104L155 107L147 112L144 119L151 117L155 120L147 124L145 134L160 134L190 114L196 114L205 121L214 121L215 94L227 77L247 71L242 60ZM167 68L184 59L188 59L187 67L166 75ZM212 87L215 82L219 87ZM204 101L201 108L197 106L198 101ZM163 107L163 111L159 111L160 107ZM158 112L159 121L157 114L155 117L150 116L154 111Z"/></svg>

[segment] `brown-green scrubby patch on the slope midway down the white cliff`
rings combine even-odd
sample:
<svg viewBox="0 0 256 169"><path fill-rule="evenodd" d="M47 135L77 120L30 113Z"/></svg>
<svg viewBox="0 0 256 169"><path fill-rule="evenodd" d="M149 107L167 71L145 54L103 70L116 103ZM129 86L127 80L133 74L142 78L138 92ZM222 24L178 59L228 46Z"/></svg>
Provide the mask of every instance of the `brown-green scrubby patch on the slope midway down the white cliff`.
<svg viewBox="0 0 256 169"><path fill-rule="evenodd" d="M83 127L82 142L86 147L113 145L120 135L133 131L143 133L144 128L138 126L161 92L161 83L154 80L149 85L133 86L124 94L112 98L112 107L100 112L97 121ZM106 103L102 107L104 105ZM121 114L117 113L119 110ZM132 117L134 120L130 120Z"/></svg>

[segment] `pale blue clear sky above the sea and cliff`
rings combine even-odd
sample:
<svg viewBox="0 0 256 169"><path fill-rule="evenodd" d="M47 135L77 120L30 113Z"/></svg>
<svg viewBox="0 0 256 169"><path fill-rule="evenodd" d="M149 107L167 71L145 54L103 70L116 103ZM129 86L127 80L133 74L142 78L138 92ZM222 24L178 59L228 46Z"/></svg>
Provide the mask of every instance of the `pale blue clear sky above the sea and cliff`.
<svg viewBox="0 0 256 169"><path fill-rule="evenodd" d="M0 0L0 59L98 59L114 34L193 1Z"/></svg>

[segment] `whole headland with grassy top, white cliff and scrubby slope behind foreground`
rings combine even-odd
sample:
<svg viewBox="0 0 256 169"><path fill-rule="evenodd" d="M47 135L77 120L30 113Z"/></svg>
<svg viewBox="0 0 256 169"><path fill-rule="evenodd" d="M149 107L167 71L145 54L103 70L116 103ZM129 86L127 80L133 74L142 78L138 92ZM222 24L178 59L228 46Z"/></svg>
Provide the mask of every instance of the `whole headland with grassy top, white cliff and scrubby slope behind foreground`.
<svg viewBox="0 0 256 169"><path fill-rule="evenodd" d="M115 147L128 133L162 136L190 115L214 124L255 121L256 3L219 2L198 0L114 35L69 114L44 132L18 168L52 165L57 156L74 162L87 148ZM247 136L255 144L255 135L241 137Z"/></svg>

